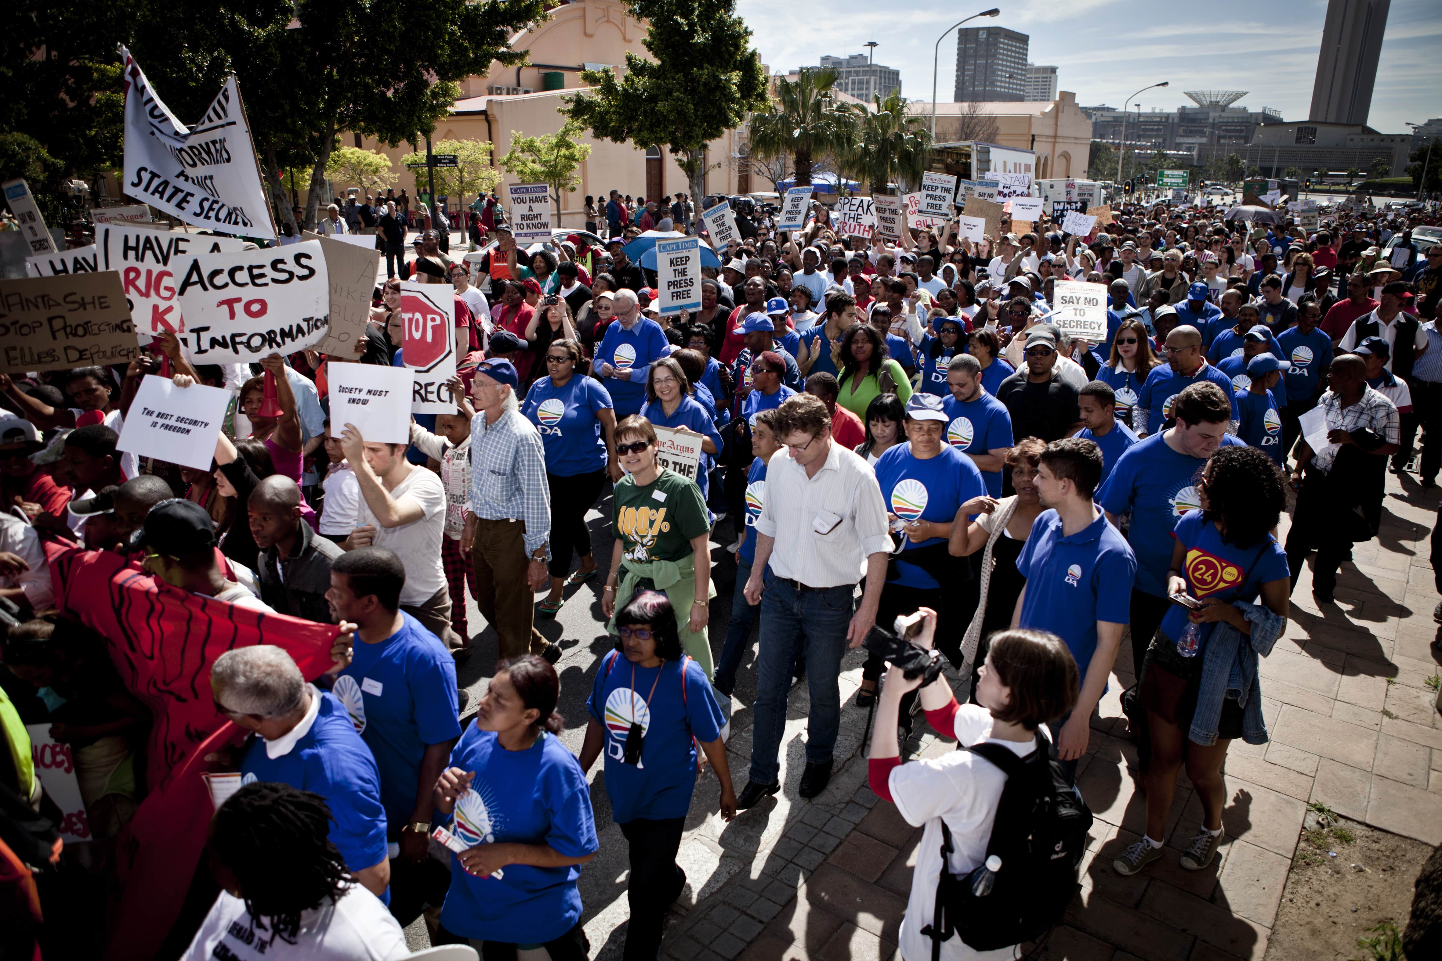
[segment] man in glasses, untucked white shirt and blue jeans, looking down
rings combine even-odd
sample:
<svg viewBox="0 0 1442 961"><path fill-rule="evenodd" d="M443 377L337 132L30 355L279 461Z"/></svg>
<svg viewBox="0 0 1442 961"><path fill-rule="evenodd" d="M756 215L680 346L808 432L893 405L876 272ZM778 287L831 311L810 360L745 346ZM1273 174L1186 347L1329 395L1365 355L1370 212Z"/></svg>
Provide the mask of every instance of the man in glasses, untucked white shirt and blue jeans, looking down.
<svg viewBox="0 0 1442 961"><path fill-rule="evenodd" d="M746 582L746 599L761 605L761 627L750 782L738 808L782 788L777 754L800 645L810 690L800 795L816 797L831 779L841 658L875 624L891 552L877 477L865 460L832 441L826 405L810 395L789 398L776 412L776 435L784 448L767 465L756 560ZM767 565L771 576L763 582ZM852 614L862 565L867 586Z"/></svg>

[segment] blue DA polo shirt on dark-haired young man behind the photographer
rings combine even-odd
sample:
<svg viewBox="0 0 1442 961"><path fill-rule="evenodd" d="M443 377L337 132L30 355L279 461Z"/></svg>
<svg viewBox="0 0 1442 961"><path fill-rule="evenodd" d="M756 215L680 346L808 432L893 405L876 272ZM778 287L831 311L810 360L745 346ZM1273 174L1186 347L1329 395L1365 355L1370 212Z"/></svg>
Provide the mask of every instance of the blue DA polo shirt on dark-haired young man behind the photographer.
<svg viewBox="0 0 1442 961"><path fill-rule="evenodd" d="M1018 627L1051 631L1066 641L1080 683L1096 651L1096 622L1132 620L1136 563L1126 539L1102 511L1070 537L1063 536L1057 511L1041 511L1017 558L1017 571L1027 578Z"/></svg>

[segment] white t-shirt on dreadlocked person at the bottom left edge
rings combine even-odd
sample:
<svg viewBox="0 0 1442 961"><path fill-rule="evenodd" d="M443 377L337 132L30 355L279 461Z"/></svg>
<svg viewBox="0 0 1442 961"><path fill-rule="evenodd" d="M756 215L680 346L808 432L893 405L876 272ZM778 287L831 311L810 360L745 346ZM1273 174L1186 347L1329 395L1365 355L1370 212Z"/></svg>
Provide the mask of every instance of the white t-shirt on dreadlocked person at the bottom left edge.
<svg viewBox="0 0 1442 961"><path fill-rule="evenodd" d="M333 905L324 900L320 908L304 912L296 944L273 937L268 924L251 918L244 900L222 890L185 952L185 961L391 961L408 957L411 949L405 947L401 925L381 899L360 885L350 885Z"/></svg>

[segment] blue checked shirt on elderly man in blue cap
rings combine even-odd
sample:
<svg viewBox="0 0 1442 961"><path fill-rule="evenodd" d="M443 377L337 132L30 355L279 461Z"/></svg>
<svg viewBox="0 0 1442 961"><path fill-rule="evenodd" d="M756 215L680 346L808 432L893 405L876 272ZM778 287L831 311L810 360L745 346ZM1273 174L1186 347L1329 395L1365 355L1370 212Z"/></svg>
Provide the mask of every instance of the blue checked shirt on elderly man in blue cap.
<svg viewBox="0 0 1442 961"><path fill-rule="evenodd" d="M545 480L545 447L519 411L486 426L485 412L470 421L470 493L466 506L486 520L522 520L526 555L545 549L551 559L551 490Z"/></svg>

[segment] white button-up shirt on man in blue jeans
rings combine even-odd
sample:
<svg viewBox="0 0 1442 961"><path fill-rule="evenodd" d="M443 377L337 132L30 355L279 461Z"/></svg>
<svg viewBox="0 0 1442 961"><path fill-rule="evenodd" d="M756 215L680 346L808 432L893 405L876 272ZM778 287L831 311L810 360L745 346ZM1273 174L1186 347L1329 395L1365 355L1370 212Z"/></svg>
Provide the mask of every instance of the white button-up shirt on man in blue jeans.
<svg viewBox="0 0 1442 961"><path fill-rule="evenodd" d="M818 529L828 533L818 533ZM782 448L766 468L756 529L773 537L771 571L809 588L857 584L867 556L891 550L877 475L835 441L815 477Z"/></svg>

